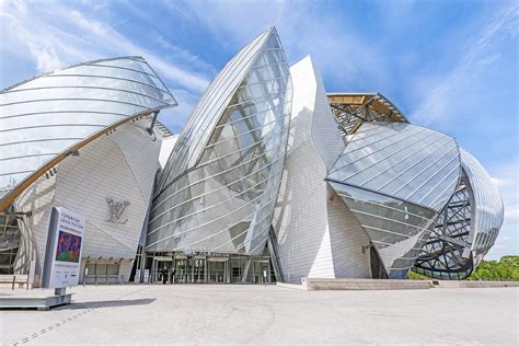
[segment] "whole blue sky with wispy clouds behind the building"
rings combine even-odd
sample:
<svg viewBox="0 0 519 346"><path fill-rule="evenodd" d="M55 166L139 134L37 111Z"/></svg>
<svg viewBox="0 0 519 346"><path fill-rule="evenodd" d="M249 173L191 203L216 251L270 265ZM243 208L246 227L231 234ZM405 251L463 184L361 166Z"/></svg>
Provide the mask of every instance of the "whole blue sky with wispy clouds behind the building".
<svg viewBox="0 0 519 346"><path fill-rule="evenodd" d="M97 58L141 55L180 106L275 25L291 64L311 55L326 90L377 91L457 138L487 169L506 216L488 257L519 254L517 1L0 0L0 89Z"/></svg>

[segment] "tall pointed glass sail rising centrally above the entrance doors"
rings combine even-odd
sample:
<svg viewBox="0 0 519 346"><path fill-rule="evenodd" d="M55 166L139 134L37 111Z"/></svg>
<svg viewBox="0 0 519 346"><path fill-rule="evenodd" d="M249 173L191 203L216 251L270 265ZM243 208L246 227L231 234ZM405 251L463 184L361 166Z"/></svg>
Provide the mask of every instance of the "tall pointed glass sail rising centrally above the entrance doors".
<svg viewBox="0 0 519 346"><path fill-rule="evenodd" d="M195 107L159 177L147 252L263 253L290 97L288 65L272 28L223 68Z"/></svg>

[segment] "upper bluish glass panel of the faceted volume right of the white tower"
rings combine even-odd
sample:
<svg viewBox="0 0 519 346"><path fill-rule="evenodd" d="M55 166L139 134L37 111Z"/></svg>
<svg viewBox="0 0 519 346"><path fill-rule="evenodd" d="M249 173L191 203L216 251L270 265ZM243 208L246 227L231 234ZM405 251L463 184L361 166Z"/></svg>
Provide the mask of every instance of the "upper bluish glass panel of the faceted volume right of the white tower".
<svg viewBox="0 0 519 346"><path fill-rule="evenodd" d="M454 193L460 158L453 138L405 123L364 123L327 177L441 210Z"/></svg>

